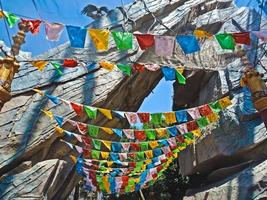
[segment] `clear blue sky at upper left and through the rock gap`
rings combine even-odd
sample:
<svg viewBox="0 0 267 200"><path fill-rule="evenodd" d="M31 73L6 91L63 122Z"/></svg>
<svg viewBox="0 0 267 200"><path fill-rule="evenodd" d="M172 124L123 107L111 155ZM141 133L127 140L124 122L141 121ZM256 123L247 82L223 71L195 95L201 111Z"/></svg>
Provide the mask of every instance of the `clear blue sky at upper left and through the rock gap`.
<svg viewBox="0 0 267 200"><path fill-rule="evenodd" d="M60 22L68 25L85 26L91 22L91 19L81 15L81 10L87 4L98 6L107 6L109 9L121 6L121 0L35 0L37 10L32 0L4 0L3 9L11 13L19 14L30 18L38 18L49 22ZM123 0L130 3L132 0ZM0 20L0 40L10 46L8 34L6 32L4 21ZM9 28L10 35L17 32L17 27ZM26 43L22 46L23 51L32 52L32 55L38 55L50 48L58 46L68 41L66 31L63 32L60 41L50 42L45 39L44 27L38 35L27 35ZM158 86L153 90L143 102L140 111L163 112L172 110L172 81L161 80Z"/></svg>

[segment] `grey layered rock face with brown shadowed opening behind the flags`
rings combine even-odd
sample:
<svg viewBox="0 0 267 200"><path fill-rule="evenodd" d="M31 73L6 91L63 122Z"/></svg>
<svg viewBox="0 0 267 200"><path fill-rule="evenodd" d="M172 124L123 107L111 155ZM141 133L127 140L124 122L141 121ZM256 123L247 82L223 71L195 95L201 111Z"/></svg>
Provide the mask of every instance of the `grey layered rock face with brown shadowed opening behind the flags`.
<svg viewBox="0 0 267 200"><path fill-rule="evenodd" d="M154 22L151 13L146 12L138 1L127 6L129 16L136 24L133 27L128 24L126 29L149 30L160 35L181 34L195 28L204 28L211 33L239 31L232 19L245 30L266 29L265 20L260 23L259 14L237 8L231 0L146 2L165 26L159 21L151 26ZM113 18L123 21L119 12ZM103 17L89 27L103 27L110 23L110 19ZM88 63L103 59L120 63L131 60L173 66L183 64L189 69L197 69L186 71L188 81L185 86L174 84L174 110L185 105L204 104L225 94L233 97L234 105L221 114L220 126L181 153L181 173L192 180L185 199L264 198L266 129L255 111L247 106L248 97L239 87L240 59L233 52L221 51L215 40L201 43L202 50L196 55L184 56L177 47L175 55L168 59L156 57L153 48L143 52L135 46L133 51L120 53L112 41L110 50L104 53L96 54L88 41L85 49L72 49L69 44L64 44L38 58L74 57ZM258 53L262 51L259 49ZM248 50L248 53L253 60L255 51ZM215 71L217 69L221 70ZM125 77L119 71L107 72L93 63L87 68L65 70L62 77L57 77L49 67L40 73L29 64L21 65L12 85L13 98L0 113L0 199L67 199L80 181L69 158L75 153L60 142L60 137L54 133L55 123L45 117L41 109L68 119L76 119L75 114L66 105L55 106L35 94L33 88L78 103L137 111L161 78L160 72L148 71ZM79 120L107 127L127 126L119 119ZM70 130L66 125L63 128Z"/></svg>

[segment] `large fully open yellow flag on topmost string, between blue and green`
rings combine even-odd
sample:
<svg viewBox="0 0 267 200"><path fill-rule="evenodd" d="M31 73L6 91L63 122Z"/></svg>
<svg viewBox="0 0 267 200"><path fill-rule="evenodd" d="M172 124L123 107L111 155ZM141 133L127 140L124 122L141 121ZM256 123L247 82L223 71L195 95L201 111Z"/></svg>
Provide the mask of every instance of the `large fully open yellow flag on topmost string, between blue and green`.
<svg viewBox="0 0 267 200"><path fill-rule="evenodd" d="M101 29L89 29L88 31L95 44L96 50L107 51L109 42L109 31Z"/></svg>

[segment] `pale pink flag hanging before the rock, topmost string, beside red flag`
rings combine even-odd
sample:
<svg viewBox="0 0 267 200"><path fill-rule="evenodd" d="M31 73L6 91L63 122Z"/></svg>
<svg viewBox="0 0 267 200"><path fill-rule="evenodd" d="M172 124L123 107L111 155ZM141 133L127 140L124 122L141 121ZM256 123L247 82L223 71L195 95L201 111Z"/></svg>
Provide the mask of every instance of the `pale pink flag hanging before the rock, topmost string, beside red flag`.
<svg viewBox="0 0 267 200"><path fill-rule="evenodd" d="M155 53L157 56L172 56L175 38L172 36L155 36Z"/></svg>

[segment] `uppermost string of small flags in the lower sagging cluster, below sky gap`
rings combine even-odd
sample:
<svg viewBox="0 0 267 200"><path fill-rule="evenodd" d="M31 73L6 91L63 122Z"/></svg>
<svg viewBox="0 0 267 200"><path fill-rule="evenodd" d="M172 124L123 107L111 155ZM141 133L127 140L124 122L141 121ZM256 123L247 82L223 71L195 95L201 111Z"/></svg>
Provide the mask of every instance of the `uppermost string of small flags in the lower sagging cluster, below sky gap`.
<svg viewBox="0 0 267 200"><path fill-rule="evenodd" d="M51 102L53 102L56 105L60 103L68 105L79 117L84 117L86 115L89 119L96 119L97 116L101 113L103 116L105 116L107 119L110 120L113 119L114 116L119 118L125 118L131 125L137 123L143 123L143 124L151 123L153 125L162 125L163 122L169 125L175 123L189 122L191 119L195 120L201 117L212 118L214 113L218 113L222 109L225 109L228 106L232 105L229 96L227 96L219 100L216 100L214 102L211 102L209 104L179 111L160 112L160 113L125 112L125 111L116 111L116 110L109 110L88 105L82 105L75 102L64 100L62 98L53 95L49 95L37 89L34 89L34 91L42 96L45 95ZM115 129L115 130L120 130L120 129ZM111 131L109 130L109 132Z"/></svg>

